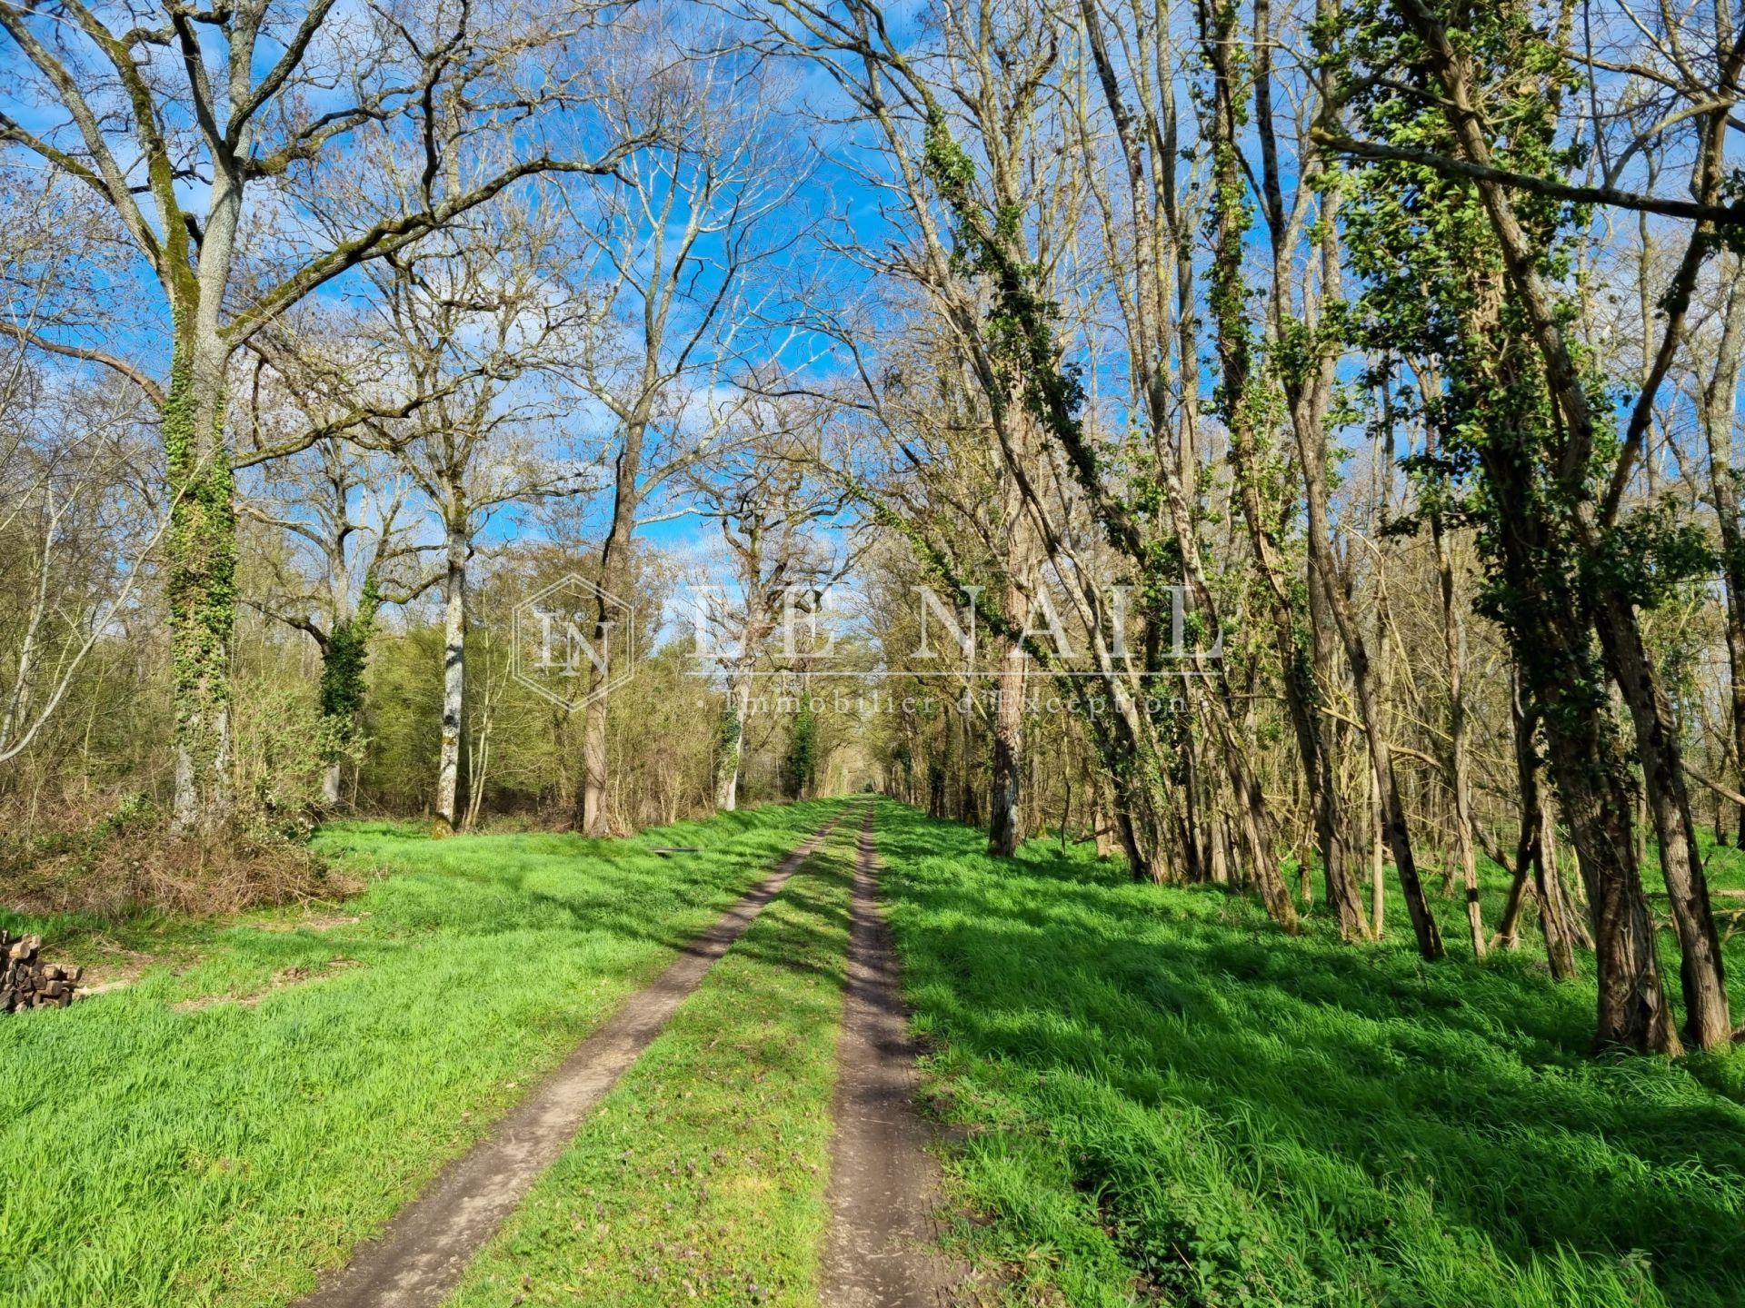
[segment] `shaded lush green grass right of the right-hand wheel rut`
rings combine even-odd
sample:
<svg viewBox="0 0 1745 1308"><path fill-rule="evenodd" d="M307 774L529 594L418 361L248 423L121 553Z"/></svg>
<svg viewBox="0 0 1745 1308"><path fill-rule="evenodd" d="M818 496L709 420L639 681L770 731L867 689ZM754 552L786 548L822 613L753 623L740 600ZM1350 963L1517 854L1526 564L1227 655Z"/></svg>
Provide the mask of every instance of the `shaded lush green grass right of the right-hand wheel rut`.
<svg viewBox="0 0 1745 1308"><path fill-rule="evenodd" d="M963 1238L1016 1292L1745 1303L1745 1055L1595 1060L1591 984L1553 985L1532 928L1476 964L1436 898L1426 966L1398 900L1382 945L1286 940L1246 896L879 813Z"/></svg>

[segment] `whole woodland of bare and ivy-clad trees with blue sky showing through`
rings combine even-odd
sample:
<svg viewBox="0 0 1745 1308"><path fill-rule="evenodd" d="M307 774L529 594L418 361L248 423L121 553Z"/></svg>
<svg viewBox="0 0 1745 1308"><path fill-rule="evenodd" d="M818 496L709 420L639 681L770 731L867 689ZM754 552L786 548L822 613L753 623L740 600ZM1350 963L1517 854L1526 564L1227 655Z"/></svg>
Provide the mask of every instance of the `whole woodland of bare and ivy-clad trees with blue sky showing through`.
<svg viewBox="0 0 1745 1308"><path fill-rule="evenodd" d="M876 788L1731 1045L1729 0L0 26L7 907Z"/></svg>

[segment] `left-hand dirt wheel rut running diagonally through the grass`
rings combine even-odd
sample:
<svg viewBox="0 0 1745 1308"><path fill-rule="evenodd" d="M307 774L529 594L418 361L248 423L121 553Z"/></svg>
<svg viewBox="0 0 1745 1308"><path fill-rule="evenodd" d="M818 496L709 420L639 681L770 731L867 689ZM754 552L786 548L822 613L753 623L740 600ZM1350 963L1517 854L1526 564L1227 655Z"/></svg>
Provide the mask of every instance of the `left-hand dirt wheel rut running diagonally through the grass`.
<svg viewBox="0 0 1745 1308"><path fill-rule="evenodd" d="M513 1107L490 1135L438 1172L380 1236L359 1245L349 1264L323 1277L314 1294L298 1299L295 1308L440 1305L503 1219L564 1153L593 1106L841 818L839 809L754 891L686 945L660 977L625 999L544 1085Z"/></svg>

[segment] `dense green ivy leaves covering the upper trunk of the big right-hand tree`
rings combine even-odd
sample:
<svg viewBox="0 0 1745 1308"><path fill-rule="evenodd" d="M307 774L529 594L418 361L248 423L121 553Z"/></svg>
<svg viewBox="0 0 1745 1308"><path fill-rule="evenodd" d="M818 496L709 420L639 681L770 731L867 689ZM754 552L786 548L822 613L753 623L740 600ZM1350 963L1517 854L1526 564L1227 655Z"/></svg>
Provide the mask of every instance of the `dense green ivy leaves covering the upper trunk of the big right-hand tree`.
<svg viewBox="0 0 1745 1308"><path fill-rule="evenodd" d="M1363 0L1349 17L1321 28L1317 40L1323 70L1344 85L1361 133L1459 153L1441 105L1417 91L1440 84L1408 24L1380 0ZM1548 178L1579 166L1579 148L1557 141L1560 98L1577 78L1567 54L1534 28L1530 7L1462 5L1448 21L1483 89L1494 160ZM1659 603L1712 562L1670 506L1611 530L1593 527L1618 457L1604 380L1577 333L1565 331L1595 426L1591 446L1577 448L1553 401L1520 277L1504 269L1476 188L1394 160L1352 164L1340 185L1345 249L1363 283L1347 330L1375 361L1375 422L1417 420L1433 434L1434 452L1408 460L1419 516L1476 528L1485 563L1478 610L1509 633L1534 706L1581 734L1605 698L1595 614L1616 600ZM1543 284L1553 293L1569 286L1588 215L1527 192L1509 199ZM1576 312L1572 296L1555 303L1564 324Z"/></svg>

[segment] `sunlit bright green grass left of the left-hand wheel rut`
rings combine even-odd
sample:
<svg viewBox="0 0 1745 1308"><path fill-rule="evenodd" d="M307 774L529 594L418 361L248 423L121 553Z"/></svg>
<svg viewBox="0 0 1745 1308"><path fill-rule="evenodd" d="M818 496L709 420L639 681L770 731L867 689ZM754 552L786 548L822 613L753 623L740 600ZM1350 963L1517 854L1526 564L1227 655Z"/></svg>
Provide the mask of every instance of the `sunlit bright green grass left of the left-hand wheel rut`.
<svg viewBox="0 0 1745 1308"><path fill-rule="evenodd" d="M174 966L0 1020L0 1305L311 1289L834 807L611 842L358 825L318 841L387 872L337 910L356 923L127 924ZM3 921L84 930L80 949L98 930Z"/></svg>

